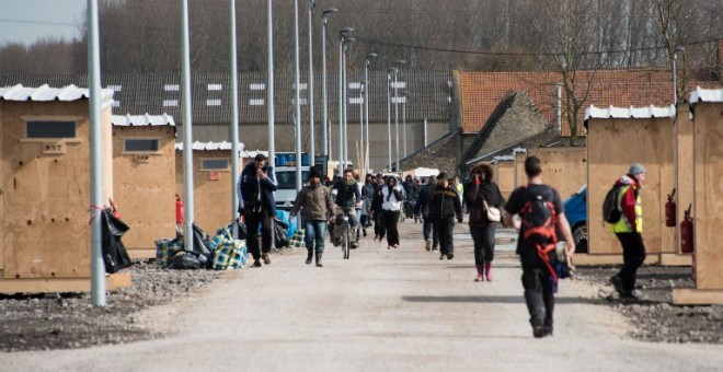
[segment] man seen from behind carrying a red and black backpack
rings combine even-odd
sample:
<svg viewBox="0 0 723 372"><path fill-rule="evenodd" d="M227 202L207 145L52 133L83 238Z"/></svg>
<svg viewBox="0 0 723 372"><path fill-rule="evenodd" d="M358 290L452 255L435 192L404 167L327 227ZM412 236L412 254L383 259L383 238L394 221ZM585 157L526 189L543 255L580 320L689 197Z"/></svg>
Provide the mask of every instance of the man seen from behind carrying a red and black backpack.
<svg viewBox="0 0 723 372"><path fill-rule="evenodd" d="M525 302L536 338L552 335L556 274L552 267L558 231L566 241L567 255L575 243L558 191L542 183L542 167L537 156L525 160L527 186L518 187L505 206L504 224L513 225L513 216L521 218L517 254L523 266Z"/></svg>

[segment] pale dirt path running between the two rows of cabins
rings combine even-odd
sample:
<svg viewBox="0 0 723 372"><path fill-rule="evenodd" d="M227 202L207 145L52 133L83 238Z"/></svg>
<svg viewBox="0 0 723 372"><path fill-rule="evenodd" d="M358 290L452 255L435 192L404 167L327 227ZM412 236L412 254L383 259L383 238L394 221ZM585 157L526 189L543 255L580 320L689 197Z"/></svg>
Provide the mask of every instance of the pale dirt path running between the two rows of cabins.
<svg viewBox="0 0 723 372"><path fill-rule="evenodd" d="M471 241L452 260L424 251L406 221L402 246L363 241L349 260L328 246L324 268L286 251L263 268L229 272L190 300L144 318L162 339L91 349L0 353L3 371L180 370L720 370L723 346L627 337L623 317L597 288L565 281L555 334L533 339L520 269L495 260L495 280L475 283ZM463 233L466 225L458 225ZM168 322L171 321L171 322Z"/></svg>

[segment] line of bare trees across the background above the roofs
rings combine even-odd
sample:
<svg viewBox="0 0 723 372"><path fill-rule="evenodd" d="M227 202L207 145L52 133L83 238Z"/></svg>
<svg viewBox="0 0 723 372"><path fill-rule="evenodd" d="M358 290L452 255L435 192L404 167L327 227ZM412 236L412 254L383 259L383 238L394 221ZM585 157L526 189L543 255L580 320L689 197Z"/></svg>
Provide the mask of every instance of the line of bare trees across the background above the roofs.
<svg viewBox="0 0 723 372"><path fill-rule="evenodd" d="M193 71L229 69L229 1L190 0ZM349 69L577 71L667 68L676 47L682 71L720 73L720 0L299 0L301 69L308 70L313 4L313 63L321 67L321 14L328 16L329 70L337 69L338 31L351 26ZM266 0L237 1L238 63L266 71ZM177 0L101 0L101 68L113 73L177 72ZM274 1L274 65L294 70L294 1ZM0 46L0 73L84 73L84 14L73 40L48 37Z"/></svg>

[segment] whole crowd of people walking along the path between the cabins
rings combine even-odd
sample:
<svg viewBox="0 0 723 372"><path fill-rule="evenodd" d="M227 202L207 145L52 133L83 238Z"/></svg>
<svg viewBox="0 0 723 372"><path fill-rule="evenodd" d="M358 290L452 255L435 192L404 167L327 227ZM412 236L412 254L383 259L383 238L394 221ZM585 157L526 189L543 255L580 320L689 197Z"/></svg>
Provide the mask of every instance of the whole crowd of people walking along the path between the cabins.
<svg viewBox="0 0 723 372"><path fill-rule="evenodd" d="M452 259L455 222L463 221L462 209L467 207L469 230L474 242L474 281L493 280L496 229L500 224L515 226L519 230L516 253L523 268L525 302L532 335L539 338L552 335L553 330L556 275L551 263L555 257L555 243L565 241L566 255L573 255L575 242L559 193L542 182L540 160L528 156L525 173L527 184L516 188L505 202L497 184L493 182L494 171L489 163L474 165L462 187L450 183L444 172L436 177L431 176L421 188L411 178L400 185L395 176L385 178L381 174L376 177L367 175L360 184L351 168L344 171L341 179L328 186L321 182L319 172L312 168L309 185L298 193L290 217L301 212L308 249L306 264L310 265L315 258L317 266L321 267L325 230L328 225L334 225L337 213L348 217L353 248L358 247L359 235L366 236L366 228L374 221L374 240L381 242L386 237L387 248L397 249L400 246L400 216L405 208L410 208L423 221L425 249L438 251L439 259ZM610 225L610 231L621 242L623 266L619 274L610 278L610 283L620 297L633 295L635 272L645 258L640 202L640 188L645 174L645 168L635 163L615 185L621 217ZM262 260L265 265L271 264L268 252L276 185L273 168L262 154L244 167L239 181L239 211L248 225L248 248L254 267L262 266ZM416 202L408 207L412 199ZM518 220L515 221L514 217ZM259 231L262 232L261 248ZM332 242L338 245L338 239L335 233Z"/></svg>

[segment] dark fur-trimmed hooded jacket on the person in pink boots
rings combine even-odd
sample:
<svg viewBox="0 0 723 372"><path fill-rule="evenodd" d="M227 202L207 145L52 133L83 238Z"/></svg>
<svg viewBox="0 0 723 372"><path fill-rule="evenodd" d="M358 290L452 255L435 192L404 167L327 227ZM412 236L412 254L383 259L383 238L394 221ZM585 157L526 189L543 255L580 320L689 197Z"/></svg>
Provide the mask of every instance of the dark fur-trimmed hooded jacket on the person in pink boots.
<svg viewBox="0 0 723 372"><path fill-rule="evenodd" d="M474 174L484 173L484 179L477 184ZM484 208L485 200L487 206L501 208L502 194L497 184L493 183L494 170L489 163L481 163L470 170L470 182L464 185L464 204L470 212L469 224L471 228L483 228L494 222L487 220L487 211Z"/></svg>

